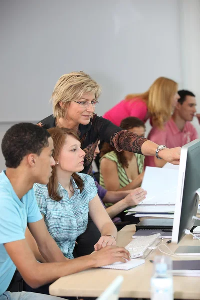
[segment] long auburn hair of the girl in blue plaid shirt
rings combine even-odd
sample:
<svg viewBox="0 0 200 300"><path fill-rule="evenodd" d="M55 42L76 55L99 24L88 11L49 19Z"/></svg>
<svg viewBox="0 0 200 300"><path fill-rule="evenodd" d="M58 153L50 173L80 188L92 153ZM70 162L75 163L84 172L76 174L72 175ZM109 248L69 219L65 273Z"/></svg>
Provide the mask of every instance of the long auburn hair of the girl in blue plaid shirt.
<svg viewBox="0 0 200 300"><path fill-rule="evenodd" d="M55 161L58 160L60 151L66 141L67 135L73 135L73 137L75 137L78 141L80 141L78 135L72 129L54 127L48 129L47 131L50 133L53 139L53 143L54 143L53 158ZM84 183L82 181L82 178L77 173L73 173L72 178L74 179L81 193L84 188ZM53 167L52 176L50 177L47 186L48 186L48 194L50 198L55 201L60 201L62 199L62 196L60 196L58 193L56 165Z"/></svg>

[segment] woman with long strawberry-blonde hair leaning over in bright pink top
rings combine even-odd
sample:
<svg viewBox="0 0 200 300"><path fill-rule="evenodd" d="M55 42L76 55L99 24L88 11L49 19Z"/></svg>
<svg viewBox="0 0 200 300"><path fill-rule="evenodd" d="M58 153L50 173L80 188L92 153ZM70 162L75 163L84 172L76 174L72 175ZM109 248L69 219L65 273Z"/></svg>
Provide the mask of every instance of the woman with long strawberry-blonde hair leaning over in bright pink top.
<svg viewBox="0 0 200 300"><path fill-rule="evenodd" d="M135 116L146 121L149 117L153 126L162 128L169 120L179 98L175 81L159 77L149 90L141 94L129 94L116 104L103 117L119 126L122 119Z"/></svg>

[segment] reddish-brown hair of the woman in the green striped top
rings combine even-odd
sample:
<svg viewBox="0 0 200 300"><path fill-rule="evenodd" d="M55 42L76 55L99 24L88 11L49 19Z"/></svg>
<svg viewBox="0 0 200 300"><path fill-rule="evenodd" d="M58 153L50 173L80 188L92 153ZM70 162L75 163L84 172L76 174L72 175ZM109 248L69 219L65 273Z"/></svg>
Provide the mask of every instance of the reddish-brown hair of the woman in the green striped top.
<svg viewBox="0 0 200 300"><path fill-rule="evenodd" d="M144 122L134 116L129 116L123 119L120 123L120 127L124 130L129 130L135 127L144 127L144 129L146 128ZM125 157L124 151L118 152L114 147L112 147L107 142L103 143L102 149L100 151L100 157L102 157L103 155L111 151L114 151L116 153L119 163L121 163L123 167L128 168L129 164L127 158Z"/></svg>

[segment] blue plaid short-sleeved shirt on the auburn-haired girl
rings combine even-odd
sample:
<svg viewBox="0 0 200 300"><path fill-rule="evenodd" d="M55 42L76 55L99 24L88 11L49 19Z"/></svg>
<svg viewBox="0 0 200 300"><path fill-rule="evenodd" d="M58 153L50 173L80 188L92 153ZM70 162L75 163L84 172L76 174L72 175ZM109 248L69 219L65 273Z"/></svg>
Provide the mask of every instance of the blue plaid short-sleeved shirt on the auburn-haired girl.
<svg viewBox="0 0 200 300"><path fill-rule="evenodd" d="M35 196L40 212L50 235L54 238L65 257L73 258L76 238L85 232L88 223L89 202L97 194L94 179L78 173L84 182L84 189L80 193L72 180L74 195L69 199L68 192L59 183L58 191L63 197L59 202L52 200L48 194L47 185L34 184Z"/></svg>

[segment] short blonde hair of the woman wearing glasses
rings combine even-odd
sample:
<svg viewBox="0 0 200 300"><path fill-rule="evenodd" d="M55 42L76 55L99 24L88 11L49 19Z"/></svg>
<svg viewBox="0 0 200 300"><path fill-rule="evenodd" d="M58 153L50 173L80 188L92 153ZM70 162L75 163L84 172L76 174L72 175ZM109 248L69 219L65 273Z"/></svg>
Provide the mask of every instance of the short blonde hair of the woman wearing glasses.
<svg viewBox="0 0 200 300"><path fill-rule="evenodd" d="M67 103L78 101L84 93L91 92L94 92L97 100L101 94L101 88L88 74L80 71L62 75L55 84L51 96L53 116L65 117ZM63 108L60 102L64 104Z"/></svg>

